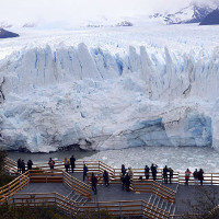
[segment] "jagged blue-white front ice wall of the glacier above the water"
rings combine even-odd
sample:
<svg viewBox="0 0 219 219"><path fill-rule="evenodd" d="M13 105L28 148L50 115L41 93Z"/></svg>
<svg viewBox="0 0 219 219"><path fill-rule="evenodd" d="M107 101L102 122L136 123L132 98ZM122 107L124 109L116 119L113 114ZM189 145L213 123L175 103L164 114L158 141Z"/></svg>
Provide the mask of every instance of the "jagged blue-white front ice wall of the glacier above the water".
<svg viewBox="0 0 219 219"><path fill-rule="evenodd" d="M0 146L218 149L218 94L217 48L25 46L0 60Z"/></svg>

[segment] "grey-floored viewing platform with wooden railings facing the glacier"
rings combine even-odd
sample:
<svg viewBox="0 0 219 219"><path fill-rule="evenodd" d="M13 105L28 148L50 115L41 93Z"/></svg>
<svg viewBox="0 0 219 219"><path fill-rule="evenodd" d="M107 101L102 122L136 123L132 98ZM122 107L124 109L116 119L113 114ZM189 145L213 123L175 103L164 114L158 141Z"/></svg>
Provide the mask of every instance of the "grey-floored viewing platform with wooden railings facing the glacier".
<svg viewBox="0 0 219 219"><path fill-rule="evenodd" d="M16 166L10 161L10 170ZM56 204L60 209L70 215L76 215L83 209L107 209L117 216L145 216L149 219L173 218L177 215L195 212L193 205L199 205L198 200L206 200L219 193L219 186L184 185L175 182L162 184L162 181L138 181L141 171L136 172L132 191L123 191L119 175L116 171L103 164L93 163L89 166L92 172L101 176L103 170L107 170L111 176L111 185L103 185L99 180L97 194L94 195L88 181L82 182L82 169L74 173L66 173L62 170L48 171L48 165L41 165L37 170L19 176L11 185L0 188L0 201L23 204L25 200L33 205L45 200ZM64 169L64 165L59 168ZM93 166L93 168L92 168ZM217 184L217 182L216 182ZM2 198L1 198L2 197ZM219 197L219 196L217 196ZM180 218L180 217L178 217Z"/></svg>

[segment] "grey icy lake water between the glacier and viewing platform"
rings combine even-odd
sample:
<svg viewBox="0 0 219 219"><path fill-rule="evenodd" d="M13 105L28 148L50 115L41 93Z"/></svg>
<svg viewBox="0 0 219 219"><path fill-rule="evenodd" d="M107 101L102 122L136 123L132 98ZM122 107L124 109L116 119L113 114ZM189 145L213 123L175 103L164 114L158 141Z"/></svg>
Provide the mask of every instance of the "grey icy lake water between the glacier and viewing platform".
<svg viewBox="0 0 219 219"><path fill-rule="evenodd" d="M77 160L100 160L113 168L120 168L124 163L127 168L141 168L151 163L159 168L171 166L174 171L185 171L187 168L194 171L195 168L204 169L205 172L219 172L219 151L210 148L197 147L139 147L123 150L107 151L58 151L53 153L21 153L9 152L13 160L19 158L33 162L47 162L49 158L64 160L73 154Z"/></svg>

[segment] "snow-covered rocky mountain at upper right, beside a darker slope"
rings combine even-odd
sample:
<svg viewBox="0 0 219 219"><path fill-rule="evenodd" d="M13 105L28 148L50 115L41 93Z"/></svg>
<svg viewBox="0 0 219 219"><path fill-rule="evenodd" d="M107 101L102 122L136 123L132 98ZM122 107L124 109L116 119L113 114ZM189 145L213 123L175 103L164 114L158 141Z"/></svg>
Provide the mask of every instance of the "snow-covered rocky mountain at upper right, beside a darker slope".
<svg viewBox="0 0 219 219"><path fill-rule="evenodd" d="M155 13L151 18L165 24L200 23L215 9L216 5L191 4L175 13Z"/></svg>

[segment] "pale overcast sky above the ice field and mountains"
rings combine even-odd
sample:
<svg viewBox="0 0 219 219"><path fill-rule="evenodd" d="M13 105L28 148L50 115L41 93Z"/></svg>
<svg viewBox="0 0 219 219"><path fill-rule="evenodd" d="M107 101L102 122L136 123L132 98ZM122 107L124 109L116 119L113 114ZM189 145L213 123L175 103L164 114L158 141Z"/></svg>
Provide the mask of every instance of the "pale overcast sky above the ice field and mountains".
<svg viewBox="0 0 219 219"><path fill-rule="evenodd" d="M97 16L120 18L174 11L191 0L0 0L0 22L81 22ZM197 0L204 1L204 0ZM209 0L207 0L209 2ZM210 0L215 1L215 0Z"/></svg>

